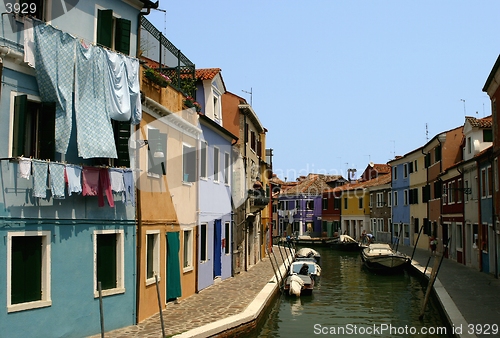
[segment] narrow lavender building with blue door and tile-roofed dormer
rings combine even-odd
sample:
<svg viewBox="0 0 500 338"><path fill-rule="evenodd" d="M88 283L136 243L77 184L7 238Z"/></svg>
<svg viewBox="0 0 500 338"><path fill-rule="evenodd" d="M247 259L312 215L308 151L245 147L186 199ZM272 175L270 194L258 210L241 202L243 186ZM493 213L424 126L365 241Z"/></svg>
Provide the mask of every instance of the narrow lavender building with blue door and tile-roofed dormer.
<svg viewBox="0 0 500 338"><path fill-rule="evenodd" d="M232 145L238 138L222 126L220 98L225 87L220 69L199 69L196 74L203 110L199 114L199 291L232 275Z"/></svg>

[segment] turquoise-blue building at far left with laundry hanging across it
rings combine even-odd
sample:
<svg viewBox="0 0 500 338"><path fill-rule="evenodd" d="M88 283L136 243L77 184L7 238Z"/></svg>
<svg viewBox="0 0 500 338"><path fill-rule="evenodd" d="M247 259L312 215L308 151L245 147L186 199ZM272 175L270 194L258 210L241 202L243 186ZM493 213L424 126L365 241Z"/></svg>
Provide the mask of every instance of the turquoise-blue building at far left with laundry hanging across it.
<svg viewBox="0 0 500 338"><path fill-rule="evenodd" d="M88 336L100 331L100 295L107 331L136 322L128 139L141 105L128 55L139 12L157 3L30 3L33 19L2 15L0 332Z"/></svg>

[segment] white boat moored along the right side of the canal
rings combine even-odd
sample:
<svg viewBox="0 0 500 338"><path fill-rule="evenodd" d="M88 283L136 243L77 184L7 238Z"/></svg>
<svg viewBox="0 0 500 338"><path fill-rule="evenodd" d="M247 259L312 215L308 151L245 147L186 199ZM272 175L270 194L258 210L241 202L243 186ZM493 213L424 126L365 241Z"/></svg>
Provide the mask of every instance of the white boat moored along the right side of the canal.
<svg viewBox="0 0 500 338"><path fill-rule="evenodd" d="M401 270L411 261L407 255L383 243L368 245L361 251L361 258L368 269L384 272Z"/></svg>

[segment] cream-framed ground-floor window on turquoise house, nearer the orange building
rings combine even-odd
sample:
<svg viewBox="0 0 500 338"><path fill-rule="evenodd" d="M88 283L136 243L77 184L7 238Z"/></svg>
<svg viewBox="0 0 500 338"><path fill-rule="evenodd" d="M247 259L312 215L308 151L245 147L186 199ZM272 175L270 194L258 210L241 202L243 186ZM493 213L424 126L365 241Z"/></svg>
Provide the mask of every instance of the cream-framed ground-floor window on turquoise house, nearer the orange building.
<svg viewBox="0 0 500 338"><path fill-rule="evenodd" d="M94 239L94 297L125 292L123 230L96 230Z"/></svg>

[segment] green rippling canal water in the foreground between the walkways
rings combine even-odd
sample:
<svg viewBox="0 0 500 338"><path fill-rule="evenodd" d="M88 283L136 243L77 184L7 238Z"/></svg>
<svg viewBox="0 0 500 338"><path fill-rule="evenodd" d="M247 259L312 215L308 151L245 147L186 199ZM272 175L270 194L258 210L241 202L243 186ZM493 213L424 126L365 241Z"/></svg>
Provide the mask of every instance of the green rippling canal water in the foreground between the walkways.
<svg viewBox="0 0 500 338"><path fill-rule="evenodd" d="M322 272L313 294L279 295L248 337L452 337L433 297L419 319L425 297L420 276L374 274L359 253L315 249Z"/></svg>

